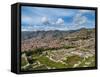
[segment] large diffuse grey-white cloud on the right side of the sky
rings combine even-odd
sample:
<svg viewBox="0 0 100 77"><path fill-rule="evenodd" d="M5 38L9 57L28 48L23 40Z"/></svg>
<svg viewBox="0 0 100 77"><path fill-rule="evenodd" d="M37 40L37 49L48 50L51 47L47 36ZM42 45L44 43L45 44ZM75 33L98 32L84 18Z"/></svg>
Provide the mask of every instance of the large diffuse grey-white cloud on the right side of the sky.
<svg viewBox="0 0 100 77"><path fill-rule="evenodd" d="M87 26L86 24L89 22L87 17L83 15L86 12L88 11L87 10L78 11L76 15L73 16L72 23L69 24L71 25L69 26L69 29L79 29L79 28L86 27Z"/></svg>

